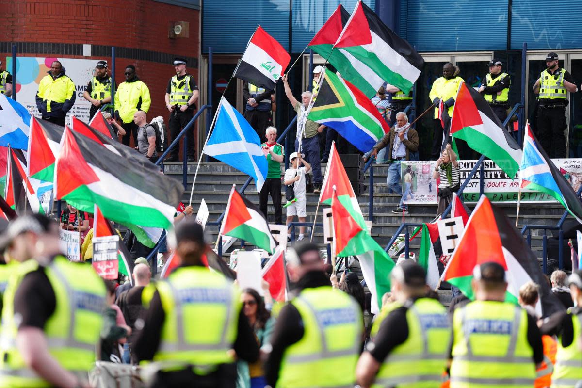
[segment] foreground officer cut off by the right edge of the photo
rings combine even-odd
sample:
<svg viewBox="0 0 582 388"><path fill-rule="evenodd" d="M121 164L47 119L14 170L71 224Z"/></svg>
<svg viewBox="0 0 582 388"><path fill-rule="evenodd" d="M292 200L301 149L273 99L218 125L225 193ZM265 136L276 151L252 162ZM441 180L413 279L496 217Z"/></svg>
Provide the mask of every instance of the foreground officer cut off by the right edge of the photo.
<svg viewBox="0 0 582 388"><path fill-rule="evenodd" d="M556 312L541 327L543 334L558 336L552 388L573 387L582 380L582 270L573 272L568 281L576 307Z"/></svg>

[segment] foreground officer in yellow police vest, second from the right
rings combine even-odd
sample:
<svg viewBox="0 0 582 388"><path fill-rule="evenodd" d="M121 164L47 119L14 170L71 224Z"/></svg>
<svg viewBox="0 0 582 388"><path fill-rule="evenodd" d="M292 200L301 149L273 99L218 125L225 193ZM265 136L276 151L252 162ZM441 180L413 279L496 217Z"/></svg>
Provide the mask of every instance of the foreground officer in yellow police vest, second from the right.
<svg viewBox="0 0 582 388"><path fill-rule="evenodd" d="M505 302L505 269L475 266L475 301L453 313L450 387L532 387L544 348L535 318Z"/></svg>

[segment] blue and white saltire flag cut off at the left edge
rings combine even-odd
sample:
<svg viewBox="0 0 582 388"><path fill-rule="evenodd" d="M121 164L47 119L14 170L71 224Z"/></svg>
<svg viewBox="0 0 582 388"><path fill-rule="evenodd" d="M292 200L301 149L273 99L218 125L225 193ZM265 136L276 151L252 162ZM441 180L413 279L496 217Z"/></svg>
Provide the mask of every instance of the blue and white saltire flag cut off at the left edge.
<svg viewBox="0 0 582 388"><path fill-rule="evenodd" d="M0 145L27 149L30 133L29 111L3 94L0 94Z"/></svg>

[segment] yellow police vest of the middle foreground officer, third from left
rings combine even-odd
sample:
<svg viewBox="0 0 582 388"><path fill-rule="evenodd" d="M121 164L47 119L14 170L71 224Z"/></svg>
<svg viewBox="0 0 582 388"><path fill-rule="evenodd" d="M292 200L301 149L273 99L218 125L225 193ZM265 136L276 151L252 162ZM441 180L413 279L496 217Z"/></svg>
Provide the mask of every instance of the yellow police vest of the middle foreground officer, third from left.
<svg viewBox="0 0 582 388"><path fill-rule="evenodd" d="M349 295L332 287L304 289L291 301L303 337L283 354L277 387L350 387L356 380L363 320Z"/></svg>

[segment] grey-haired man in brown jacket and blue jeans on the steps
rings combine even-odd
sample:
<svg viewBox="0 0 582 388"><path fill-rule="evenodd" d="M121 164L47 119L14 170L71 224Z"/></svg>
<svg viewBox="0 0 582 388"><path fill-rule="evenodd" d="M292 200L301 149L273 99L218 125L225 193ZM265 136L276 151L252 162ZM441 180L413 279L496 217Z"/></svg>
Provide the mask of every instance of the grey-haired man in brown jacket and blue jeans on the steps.
<svg viewBox="0 0 582 388"><path fill-rule="evenodd" d="M402 161L410 161L411 154L418 152L418 132L410 128L406 113L399 112L396 114L396 124L374 145L370 155L364 156L364 161L367 161L370 157L375 158L378 155L378 151L384 147L388 147L386 149L386 159L391 163L388 168L386 184L394 193L402 195L400 163ZM408 213L408 210L404 202L400 201L400 207L392 212Z"/></svg>

